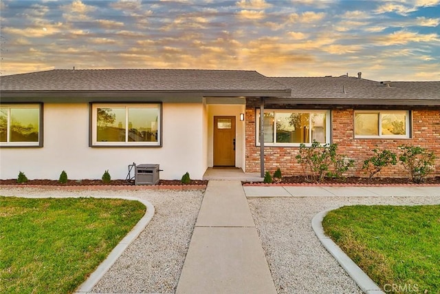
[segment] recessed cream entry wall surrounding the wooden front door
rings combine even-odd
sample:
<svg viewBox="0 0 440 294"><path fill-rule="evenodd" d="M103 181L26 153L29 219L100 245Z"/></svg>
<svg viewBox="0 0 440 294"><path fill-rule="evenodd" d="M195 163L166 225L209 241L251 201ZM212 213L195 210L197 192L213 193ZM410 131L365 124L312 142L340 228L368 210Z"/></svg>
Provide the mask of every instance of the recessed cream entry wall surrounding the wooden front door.
<svg viewBox="0 0 440 294"><path fill-rule="evenodd" d="M214 165L214 116L235 116L235 166L245 167L245 105L208 105L208 167Z"/></svg>

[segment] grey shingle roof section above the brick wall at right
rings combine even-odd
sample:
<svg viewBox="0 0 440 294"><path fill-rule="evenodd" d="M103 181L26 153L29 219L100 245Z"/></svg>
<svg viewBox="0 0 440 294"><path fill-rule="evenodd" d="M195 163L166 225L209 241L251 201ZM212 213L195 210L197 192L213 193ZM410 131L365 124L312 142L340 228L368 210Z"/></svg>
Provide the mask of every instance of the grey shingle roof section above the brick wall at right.
<svg viewBox="0 0 440 294"><path fill-rule="evenodd" d="M296 100L437 100L440 104L440 81L377 82L349 76L272 79L292 89L288 98Z"/></svg>

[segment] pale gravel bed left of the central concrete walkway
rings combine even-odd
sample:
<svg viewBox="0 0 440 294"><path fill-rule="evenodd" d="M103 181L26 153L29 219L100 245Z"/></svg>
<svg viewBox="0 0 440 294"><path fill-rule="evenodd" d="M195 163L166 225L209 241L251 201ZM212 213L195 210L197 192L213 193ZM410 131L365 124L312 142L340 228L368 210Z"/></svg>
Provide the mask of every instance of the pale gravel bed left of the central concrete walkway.
<svg viewBox="0 0 440 294"><path fill-rule="evenodd" d="M131 196L151 202L155 216L129 245L92 293L175 293L203 191L66 191L7 189L2 196Z"/></svg>

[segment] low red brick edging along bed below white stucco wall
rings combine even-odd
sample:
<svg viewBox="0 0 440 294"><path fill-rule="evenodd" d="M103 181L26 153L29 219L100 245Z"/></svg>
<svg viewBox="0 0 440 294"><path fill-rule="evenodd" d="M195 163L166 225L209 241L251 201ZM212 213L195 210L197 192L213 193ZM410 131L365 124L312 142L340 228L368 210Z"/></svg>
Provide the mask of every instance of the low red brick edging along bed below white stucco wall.
<svg viewBox="0 0 440 294"><path fill-rule="evenodd" d="M0 188L41 188L41 189L59 189L59 190L204 190L206 185L71 185L71 186L61 186L61 185L0 185Z"/></svg>

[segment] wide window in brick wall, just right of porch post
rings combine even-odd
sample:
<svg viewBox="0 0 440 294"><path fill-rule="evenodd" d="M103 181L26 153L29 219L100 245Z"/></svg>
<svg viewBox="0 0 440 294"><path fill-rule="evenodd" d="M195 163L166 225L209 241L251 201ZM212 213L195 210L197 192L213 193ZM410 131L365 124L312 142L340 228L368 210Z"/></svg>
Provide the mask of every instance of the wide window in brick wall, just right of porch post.
<svg viewBox="0 0 440 294"><path fill-rule="evenodd" d="M257 110L256 138L260 138L260 112ZM267 109L263 115L265 145L299 146L300 143L329 143L329 112Z"/></svg>

